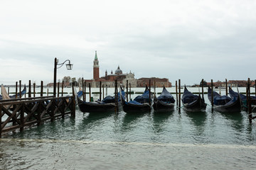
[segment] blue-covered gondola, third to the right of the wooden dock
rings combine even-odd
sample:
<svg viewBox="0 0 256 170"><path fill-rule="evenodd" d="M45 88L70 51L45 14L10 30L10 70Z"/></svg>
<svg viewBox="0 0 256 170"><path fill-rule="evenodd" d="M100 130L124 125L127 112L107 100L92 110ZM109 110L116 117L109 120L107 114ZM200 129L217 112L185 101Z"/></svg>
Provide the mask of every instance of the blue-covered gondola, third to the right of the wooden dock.
<svg viewBox="0 0 256 170"><path fill-rule="evenodd" d="M164 87L160 96L154 96L153 108L154 111L174 111L174 103L174 96Z"/></svg>

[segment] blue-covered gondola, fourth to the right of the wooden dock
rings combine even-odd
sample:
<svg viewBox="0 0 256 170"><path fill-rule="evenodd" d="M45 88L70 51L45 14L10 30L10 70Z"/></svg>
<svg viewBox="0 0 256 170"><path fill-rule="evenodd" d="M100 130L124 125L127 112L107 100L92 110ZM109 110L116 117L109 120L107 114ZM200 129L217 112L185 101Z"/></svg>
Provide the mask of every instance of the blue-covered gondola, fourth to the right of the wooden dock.
<svg viewBox="0 0 256 170"><path fill-rule="evenodd" d="M184 88L184 92L181 98L183 108L190 112L201 112L206 110L206 103L201 95L192 94L188 89Z"/></svg>

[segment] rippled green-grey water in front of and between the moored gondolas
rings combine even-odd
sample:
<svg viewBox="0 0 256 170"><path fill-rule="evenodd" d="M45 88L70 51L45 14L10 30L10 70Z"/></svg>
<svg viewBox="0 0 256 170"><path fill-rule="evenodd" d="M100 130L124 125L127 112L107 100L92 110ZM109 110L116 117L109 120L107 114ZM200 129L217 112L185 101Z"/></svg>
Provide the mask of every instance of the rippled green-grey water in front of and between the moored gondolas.
<svg viewBox="0 0 256 170"><path fill-rule="evenodd" d="M77 109L75 118L4 136L0 169L255 169L255 144L256 123L245 112L211 113L210 106L204 113Z"/></svg>

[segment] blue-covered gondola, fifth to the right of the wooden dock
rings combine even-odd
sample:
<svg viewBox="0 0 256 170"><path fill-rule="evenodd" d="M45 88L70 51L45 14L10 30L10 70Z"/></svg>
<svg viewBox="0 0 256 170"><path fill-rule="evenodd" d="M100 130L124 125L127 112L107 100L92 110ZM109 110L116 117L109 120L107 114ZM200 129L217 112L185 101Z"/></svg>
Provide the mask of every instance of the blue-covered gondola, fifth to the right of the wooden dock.
<svg viewBox="0 0 256 170"><path fill-rule="evenodd" d="M211 89L208 87L208 99L212 102ZM225 113L238 113L241 111L240 96L230 98L228 96L220 96L213 91L213 107L216 111Z"/></svg>

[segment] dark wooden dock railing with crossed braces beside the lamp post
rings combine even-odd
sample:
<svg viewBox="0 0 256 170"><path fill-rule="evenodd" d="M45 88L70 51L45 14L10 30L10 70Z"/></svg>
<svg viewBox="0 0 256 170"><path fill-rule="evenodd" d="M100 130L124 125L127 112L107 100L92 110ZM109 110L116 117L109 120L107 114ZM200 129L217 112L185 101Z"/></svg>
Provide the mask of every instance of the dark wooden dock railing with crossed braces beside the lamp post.
<svg viewBox="0 0 256 170"><path fill-rule="evenodd" d="M24 128L31 125L41 125L46 120L64 118L70 114L75 117L74 96L45 96L35 98L16 98L0 101L2 133Z"/></svg>

